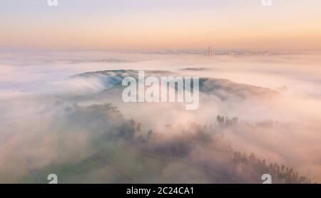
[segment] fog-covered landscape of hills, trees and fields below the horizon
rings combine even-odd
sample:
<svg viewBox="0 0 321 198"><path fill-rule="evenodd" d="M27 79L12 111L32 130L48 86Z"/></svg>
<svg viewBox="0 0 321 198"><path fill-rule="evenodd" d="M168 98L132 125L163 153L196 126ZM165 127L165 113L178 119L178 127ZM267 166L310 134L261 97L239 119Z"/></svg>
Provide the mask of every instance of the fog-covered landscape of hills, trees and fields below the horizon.
<svg viewBox="0 0 321 198"><path fill-rule="evenodd" d="M321 182L318 53L0 53L0 182ZM200 77L198 110L121 81Z"/></svg>

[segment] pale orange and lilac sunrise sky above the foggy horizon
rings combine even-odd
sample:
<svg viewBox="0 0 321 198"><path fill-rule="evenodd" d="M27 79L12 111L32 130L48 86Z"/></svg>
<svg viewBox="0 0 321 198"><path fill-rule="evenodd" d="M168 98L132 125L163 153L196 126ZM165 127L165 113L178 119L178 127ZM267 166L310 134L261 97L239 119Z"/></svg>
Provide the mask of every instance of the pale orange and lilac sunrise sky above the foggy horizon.
<svg viewBox="0 0 321 198"><path fill-rule="evenodd" d="M0 49L320 50L321 1L1 0Z"/></svg>

